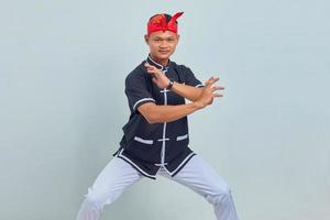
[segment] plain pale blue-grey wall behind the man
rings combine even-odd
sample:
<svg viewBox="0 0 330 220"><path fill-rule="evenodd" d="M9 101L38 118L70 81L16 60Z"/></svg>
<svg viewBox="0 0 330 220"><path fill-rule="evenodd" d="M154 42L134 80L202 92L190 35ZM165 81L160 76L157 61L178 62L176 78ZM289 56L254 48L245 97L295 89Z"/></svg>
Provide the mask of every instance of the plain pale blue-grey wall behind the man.
<svg viewBox="0 0 330 220"><path fill-rule="evenodd" d="M227 87L189 117L190 146L232 187L241 219L330 219L329 10L318 0L2 0L0 219L75 219L121 139L145 22L163 11L185 11L173 59ZM215 217L160 177L102 219Z"/></svg>

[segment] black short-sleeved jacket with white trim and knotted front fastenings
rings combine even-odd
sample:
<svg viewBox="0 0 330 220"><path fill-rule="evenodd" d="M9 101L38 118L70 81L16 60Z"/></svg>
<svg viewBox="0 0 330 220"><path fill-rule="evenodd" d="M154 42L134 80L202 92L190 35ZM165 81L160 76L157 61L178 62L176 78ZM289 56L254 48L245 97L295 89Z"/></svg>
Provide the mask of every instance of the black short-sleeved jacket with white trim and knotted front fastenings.
<svg viewBox="0 0 330 220"><path fill-rule="evenodd" d="M185 105L185 98L168 89L160 89L152 81L152 75L146 72L145 62L179 84L204 87L188 67L172 61L165 67L148 56L125 78L125 95L131 114L129 122L122 128L124 134L114 156L124 160L142 175L153 179L161 167L170 176L175 176L195 155L188 147L187 117L173 122L151 124L138 108L146 102L160 106Z"/></svg>

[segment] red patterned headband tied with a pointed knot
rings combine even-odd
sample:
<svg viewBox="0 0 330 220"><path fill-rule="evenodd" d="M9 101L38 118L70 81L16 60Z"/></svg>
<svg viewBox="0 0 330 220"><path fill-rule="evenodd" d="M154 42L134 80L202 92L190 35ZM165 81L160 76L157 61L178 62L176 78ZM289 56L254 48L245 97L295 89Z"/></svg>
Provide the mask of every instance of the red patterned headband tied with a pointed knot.
<svg viewBox="0 0 330 220"><path fill-rule="evenodd" d="M183 15L183 13L184 12L177 12L176 14L174 14L172 19L168 21L168 23L166 22L166 18L164 14L155 15L147 22L147 35L157 31L163 31L163 32L170 31L177 33L176 20L180 15Z"/></svg>

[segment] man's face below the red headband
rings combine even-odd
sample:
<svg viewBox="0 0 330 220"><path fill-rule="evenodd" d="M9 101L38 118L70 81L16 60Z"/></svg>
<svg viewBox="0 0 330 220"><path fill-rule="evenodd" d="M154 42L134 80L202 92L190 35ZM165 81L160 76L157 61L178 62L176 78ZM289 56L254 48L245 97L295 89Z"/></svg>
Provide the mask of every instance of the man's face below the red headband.
<svg viewBox="0 0 330 220"><path fill-rule="evenodd" d="M145 42L150 47L150 53L154 58L167 59L175 52L179 35L170 31L153 32L145 35Z"/></svg>

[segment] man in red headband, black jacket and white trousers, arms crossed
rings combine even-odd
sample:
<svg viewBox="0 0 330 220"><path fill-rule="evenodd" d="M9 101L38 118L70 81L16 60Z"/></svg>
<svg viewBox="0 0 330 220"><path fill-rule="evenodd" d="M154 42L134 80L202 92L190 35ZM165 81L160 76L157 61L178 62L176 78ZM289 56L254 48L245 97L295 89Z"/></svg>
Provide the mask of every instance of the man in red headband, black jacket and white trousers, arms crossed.
<svg viewBox="0 0 330 220"><path fill-rule="evenodd" d="M88 189L77 220L97 220L105 205L143 177L162 175L183 184L213 205L218 220L238 220L230 188L189 147L187 116L212 103L223 87L211 77L202 85L184 66L169 59L179 40L177 19L156 14L147 23L150 47L125 79L131 116L114 157ZM185 103L185 98L191 102Z"/></svg>

